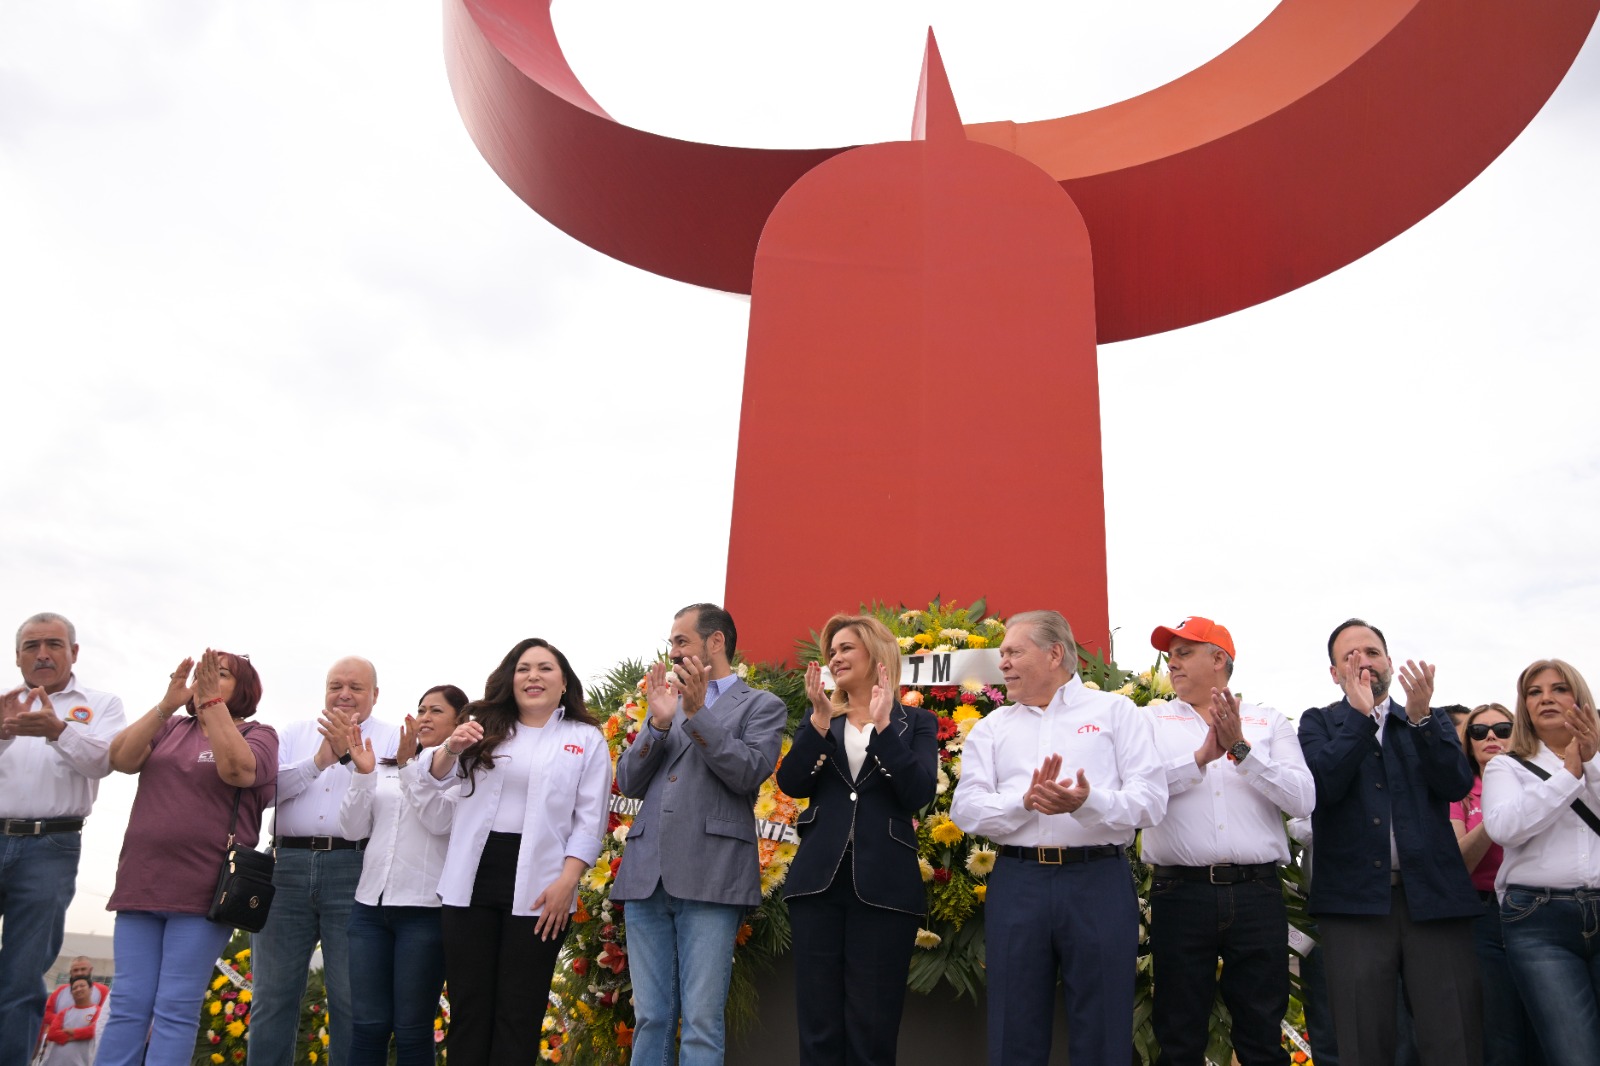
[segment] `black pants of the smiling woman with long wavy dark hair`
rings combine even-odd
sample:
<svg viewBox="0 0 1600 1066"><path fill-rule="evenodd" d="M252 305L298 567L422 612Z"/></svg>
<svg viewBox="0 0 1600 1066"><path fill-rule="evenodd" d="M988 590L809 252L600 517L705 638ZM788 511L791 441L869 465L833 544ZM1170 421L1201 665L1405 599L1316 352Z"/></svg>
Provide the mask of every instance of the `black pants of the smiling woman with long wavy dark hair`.
<svg viewBox="0 0 1600 1066"><path fill-rule="evenodd" d="M539 1058L550 975L566 930L539 940L538 917L510 912L520 847L520 834L491 832L478 858L472 906L440 909L450 994L445 1047L453 1063L512 1066Z"/></svg>

